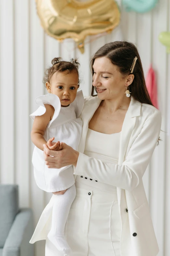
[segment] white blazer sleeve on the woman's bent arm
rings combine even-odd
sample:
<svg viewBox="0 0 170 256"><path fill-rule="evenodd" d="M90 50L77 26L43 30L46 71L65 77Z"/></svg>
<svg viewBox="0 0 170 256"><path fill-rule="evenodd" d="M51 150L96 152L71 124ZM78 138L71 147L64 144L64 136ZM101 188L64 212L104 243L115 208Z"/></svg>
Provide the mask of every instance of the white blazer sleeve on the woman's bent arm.
<svg viewBox="0 0 170 256"><path fill-rule="evenodd" d="M125 161L121 164L103 163L79 153L75 175L83 175L128 191L134 190L149 164L161 130L161 112L156 111L145 120Z"/></svg>

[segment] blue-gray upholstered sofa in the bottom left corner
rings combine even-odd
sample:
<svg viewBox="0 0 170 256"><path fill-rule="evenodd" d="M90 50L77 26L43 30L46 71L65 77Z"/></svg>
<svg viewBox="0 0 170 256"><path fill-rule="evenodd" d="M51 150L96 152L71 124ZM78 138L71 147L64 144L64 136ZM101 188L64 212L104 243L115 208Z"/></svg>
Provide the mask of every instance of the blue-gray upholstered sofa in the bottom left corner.
<svg viewBox="0 0 170 256"><path fill-rule="evenodd" d="M17 185L0 185L0 256L34 256L33 212L18 201Z"/></svg>

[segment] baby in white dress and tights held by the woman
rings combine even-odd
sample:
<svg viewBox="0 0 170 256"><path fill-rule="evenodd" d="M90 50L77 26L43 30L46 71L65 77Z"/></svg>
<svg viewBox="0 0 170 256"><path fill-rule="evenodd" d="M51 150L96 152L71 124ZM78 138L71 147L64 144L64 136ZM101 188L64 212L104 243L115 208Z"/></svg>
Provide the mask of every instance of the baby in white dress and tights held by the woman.
<svg viewBox="0 0 170 256"><path fill-rule="evenodd" d="M52 66L46 70L44 82L50 94L39 96L35 102L39 108L30 115L34 119L31 139L35 145L32 163L34 176L38 187L47 192L54 193L51 229L48 239L65 255L71 249L64 237L64 227L71 204L76 196L75 179L72 166L60 169L47 168L45 161L41 168L37 168L43 159L43 144L50 150L61 150L65 142L75 150L82 132L82 120L79 115L84 104L82 91L78 91L79 74L77 60L70 62L54 58ZM54 142L54 140L56 142ZM38 170L42 169L42 172ZM61 195L55 192L61 191Z"/></svg>

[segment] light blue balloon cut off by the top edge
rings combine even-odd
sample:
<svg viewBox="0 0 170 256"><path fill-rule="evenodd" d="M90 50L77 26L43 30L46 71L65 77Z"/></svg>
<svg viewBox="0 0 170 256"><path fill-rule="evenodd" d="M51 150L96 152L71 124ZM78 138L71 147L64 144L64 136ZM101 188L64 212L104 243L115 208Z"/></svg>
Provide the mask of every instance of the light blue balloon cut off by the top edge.
<svg viewBox="0 0 170 256"><path fill-rule="evenodd" d="M126 11L148 12L153 9L158 0L122 0Z"/></svg>

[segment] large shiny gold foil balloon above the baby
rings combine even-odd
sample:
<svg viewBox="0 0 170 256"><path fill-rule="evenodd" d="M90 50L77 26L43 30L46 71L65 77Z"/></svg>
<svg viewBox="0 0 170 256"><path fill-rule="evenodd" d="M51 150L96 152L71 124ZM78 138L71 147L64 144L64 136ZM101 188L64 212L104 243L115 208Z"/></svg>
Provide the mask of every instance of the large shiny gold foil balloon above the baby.
<svg viewBox="0 0 170 256"><path fill-rule="evenodd" d="M120 22L114 0L36 0L36 6L47 34L58 40L73 38L81 53L86 36L110 32Z"/></svg>

